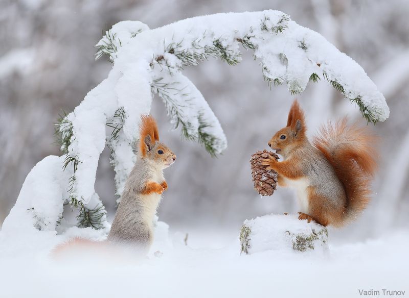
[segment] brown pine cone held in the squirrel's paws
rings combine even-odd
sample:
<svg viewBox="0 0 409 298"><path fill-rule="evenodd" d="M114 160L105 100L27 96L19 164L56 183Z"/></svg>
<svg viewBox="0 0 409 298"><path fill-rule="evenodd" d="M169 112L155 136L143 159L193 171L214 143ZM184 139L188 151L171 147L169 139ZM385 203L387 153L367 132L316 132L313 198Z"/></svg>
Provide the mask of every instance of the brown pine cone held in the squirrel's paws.
<svg viewBox="0 0 409 298"><path fill-rule="evenodd" d="M277 172L275 170L267 170L265 165L261 165L263 159L268 158L268 156L279 159L278 155L274 152L263 150L253 154L250 160L254 189L261 195L272 195L277 187Z"/></svg>

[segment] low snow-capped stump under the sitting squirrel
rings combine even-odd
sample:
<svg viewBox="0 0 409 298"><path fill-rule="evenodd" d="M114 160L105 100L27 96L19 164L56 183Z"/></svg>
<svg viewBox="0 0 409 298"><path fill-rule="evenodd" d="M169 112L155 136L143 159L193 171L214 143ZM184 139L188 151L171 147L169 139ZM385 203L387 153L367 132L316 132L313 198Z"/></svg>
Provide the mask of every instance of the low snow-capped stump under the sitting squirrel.
<svg viewBox="0 0 409 298"><path fill-rule="evenodd" d="M328 251L327 228L295 215L264 215L245 220L240 230L241 253L263 251Z"/></svg>

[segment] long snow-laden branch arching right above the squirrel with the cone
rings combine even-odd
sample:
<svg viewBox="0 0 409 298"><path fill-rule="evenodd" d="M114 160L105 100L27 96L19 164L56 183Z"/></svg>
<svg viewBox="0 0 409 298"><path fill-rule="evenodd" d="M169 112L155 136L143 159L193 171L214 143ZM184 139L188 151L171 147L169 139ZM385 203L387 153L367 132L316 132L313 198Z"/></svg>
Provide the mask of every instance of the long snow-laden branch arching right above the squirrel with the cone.
<svg viewBox="0 0 409 298"><path fill-rule="evenodd" d="M355 61L320 34L299 26L279 11L181 20L135 35L118 48L116 56L120 64L147 59L152 68L159 63L162 71L173 74L209 57L235 65L241 61L238 44L255 51L268 83L286 83L296 94L305 89L310 78L315 82L325 78L357 104L369 122L384 121L389 116L383 95Z"/></svg>

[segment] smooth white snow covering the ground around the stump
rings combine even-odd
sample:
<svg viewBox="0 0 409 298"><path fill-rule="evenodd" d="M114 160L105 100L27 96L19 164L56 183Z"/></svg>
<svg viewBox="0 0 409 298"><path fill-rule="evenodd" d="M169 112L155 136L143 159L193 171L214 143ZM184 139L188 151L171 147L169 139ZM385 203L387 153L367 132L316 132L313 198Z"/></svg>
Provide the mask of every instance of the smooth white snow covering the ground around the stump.
<svg viewBox="0 0 409 298"><path fill-rule="evenodd" d="M240 255L236 230L190 229L186 246L185 231L170 229L167 239L166 228L162 224L152 250L161 247L163 254L139 262L108 254L49 257L67 235L98 238L88 229L20 238L0 232L0 297L358 297L362 289L408 290L407 231L336 245L330 231L330 254L322 257Z"/></svg>

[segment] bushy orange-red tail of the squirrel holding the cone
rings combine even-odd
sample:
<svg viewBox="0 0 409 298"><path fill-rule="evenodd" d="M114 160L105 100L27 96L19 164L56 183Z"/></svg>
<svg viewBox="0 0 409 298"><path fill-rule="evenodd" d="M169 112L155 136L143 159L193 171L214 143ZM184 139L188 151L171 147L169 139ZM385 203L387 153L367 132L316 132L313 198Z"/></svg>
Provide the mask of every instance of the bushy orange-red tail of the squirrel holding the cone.
<svg viewBox="0 0 409 298"><path fill-rule="evenodd" d="M359 215L370 201L370 183L377 168L376 137L366 127L347 125L344 118L323 126L313 143L335 169L347 195L345 221Z"/></svg>

